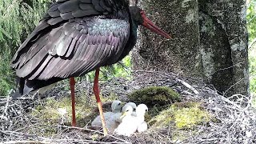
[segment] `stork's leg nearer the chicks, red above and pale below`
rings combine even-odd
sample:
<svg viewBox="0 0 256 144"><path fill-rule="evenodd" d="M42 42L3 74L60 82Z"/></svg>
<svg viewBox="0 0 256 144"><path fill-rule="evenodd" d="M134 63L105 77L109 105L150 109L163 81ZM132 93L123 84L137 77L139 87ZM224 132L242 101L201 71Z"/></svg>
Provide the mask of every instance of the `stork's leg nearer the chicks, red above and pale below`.
<svg viewBox="0 0 256 144"><path fill-rule="evenodd" d="M103 116L101 98L99 98L98 75L99 75L99 68L96 69L96 71L95 71L95 78L94 78L94 94L95 94L95 97L96 97L96 100L97 100L97 103L98 103L99 114L100 114L101 119L102 119L103 132L104 132L104 135L106 136L106 134L107 134L106 122L105 122L105 118L104 118L104 116Z"/></svg>

